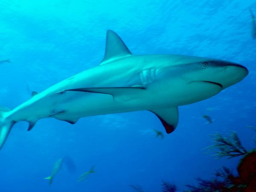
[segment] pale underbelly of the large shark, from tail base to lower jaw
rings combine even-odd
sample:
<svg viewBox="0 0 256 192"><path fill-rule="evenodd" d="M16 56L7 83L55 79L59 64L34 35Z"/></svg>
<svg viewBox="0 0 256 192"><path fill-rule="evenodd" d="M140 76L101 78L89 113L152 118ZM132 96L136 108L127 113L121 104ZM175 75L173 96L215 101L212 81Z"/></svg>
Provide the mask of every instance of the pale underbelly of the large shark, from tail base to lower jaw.
<svg viewBox="0 0 256 192"><path fill-rule="evenodd" d="M202 87L204 92L202 92ZM207 91L209 90L209 91ZM35 102L24 103L9 116L11 121L27 120L35 122L41 118L54 117L61 120L77 119L111 113L154 110L187 105L207 99L221 88L215 84L186 81L153 83L145 90L119 94L86 93L66 91L43 96ZM200 93L200 94L199 94Z"/></svg>

